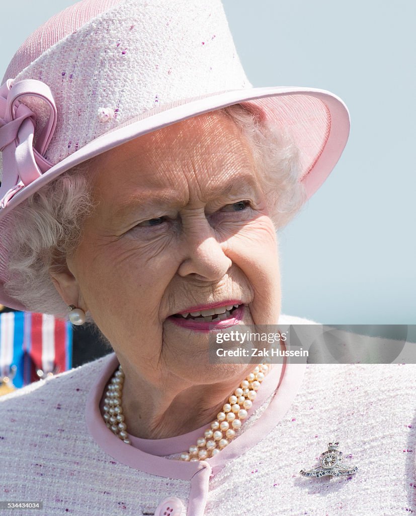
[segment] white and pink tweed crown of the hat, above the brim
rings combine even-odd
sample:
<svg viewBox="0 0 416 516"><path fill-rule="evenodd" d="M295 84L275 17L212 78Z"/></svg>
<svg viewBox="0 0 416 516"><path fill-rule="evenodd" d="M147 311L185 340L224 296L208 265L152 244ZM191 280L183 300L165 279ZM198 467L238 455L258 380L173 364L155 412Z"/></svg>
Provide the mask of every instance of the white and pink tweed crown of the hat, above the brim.
<svg viewBox="0 0 416 516"><path fill-rule="evenodd" d="M219 0L84 0L33 33L8 70L42 50L11 78L41 80L54 96L51 165L133 117L249 86ZM49 110L34 96L23 102L37 116L36 142Z"/></svg>

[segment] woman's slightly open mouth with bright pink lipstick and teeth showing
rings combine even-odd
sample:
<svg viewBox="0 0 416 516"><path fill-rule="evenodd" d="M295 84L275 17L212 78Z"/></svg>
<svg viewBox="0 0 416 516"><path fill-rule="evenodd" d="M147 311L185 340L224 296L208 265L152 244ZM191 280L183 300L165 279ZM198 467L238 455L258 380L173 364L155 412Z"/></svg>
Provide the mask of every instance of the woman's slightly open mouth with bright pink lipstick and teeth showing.
<svg viewBox="0 0 416 516"><path fill-rule="evenodd" d="M230 304L218 305L216 307L198 307L189 311L180 312L168 317L176 325L194 330L212 329L213 325L218 328L238 324L242 318L245 305L241 301L230 302Z"/></svg>

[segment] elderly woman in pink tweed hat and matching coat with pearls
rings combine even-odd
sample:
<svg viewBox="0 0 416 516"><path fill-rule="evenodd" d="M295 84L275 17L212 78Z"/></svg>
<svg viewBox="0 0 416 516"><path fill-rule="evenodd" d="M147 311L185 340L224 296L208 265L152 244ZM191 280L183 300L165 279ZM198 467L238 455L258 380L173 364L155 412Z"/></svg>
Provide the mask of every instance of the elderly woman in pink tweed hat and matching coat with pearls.
<svg viewBox="0 0 416 516"><path fill-rule="evenodd" d="M0 302L69 310L114 350L1 399L7 503L412 510L408 368L209 360L216 332L308 322L280 314L275 232L342 152L339 99L251 88L217 1L83 0L22 45L0 102Z"/></svg>

